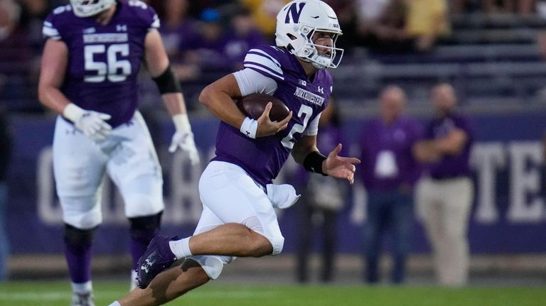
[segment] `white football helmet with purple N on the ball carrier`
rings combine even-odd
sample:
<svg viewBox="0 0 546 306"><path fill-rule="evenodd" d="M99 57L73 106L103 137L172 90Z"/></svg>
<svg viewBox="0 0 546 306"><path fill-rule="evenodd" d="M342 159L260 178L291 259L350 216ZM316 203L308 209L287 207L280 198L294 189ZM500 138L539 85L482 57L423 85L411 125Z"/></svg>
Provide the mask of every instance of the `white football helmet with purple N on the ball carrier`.
<svg viewBox="0 0 546 306"><path fill-rule="evenodd" d="M319 54L317 45L311 40L316 32L332 34L331 46L319 45L319 48L329 50L326 56ZM338 67L343 49L336 48L336 40L342 34L336 13L320 0L290 1L277 14L277 47L287 48L291 54L311 62L318 69Z"/></svg>

